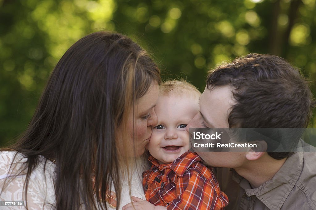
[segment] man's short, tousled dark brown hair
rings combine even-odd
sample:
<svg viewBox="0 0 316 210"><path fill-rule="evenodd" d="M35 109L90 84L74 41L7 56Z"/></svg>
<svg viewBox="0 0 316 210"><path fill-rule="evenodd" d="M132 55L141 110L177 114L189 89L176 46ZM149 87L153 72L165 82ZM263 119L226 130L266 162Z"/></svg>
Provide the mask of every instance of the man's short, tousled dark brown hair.
<svg viewBox="0 0 316 210"><path fill-rule="evenodd" d="M309 84L281 57L248 54L210 72L208 89L226 85L236 100L228 116L231 128L306 128L311 119L314 101ZM283 159L293 152L268 154Z"/></svg>

